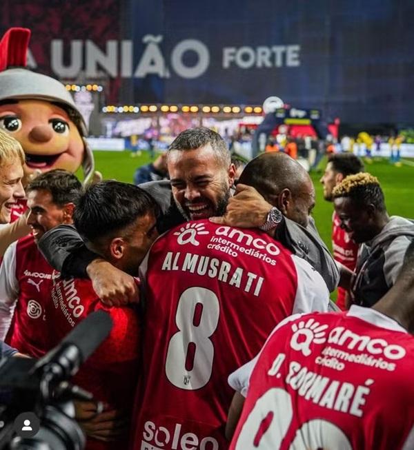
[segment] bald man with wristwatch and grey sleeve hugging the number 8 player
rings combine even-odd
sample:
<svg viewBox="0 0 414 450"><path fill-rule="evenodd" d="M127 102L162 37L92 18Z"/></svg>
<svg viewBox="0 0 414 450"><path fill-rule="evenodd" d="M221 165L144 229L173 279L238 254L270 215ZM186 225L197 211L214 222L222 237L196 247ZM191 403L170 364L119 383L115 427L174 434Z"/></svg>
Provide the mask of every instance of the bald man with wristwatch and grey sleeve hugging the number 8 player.
<svg viewBox="0 0 414 450"><path fill-rule="evenodd" d="M310 216L314 206L315 189L308 172L290 156L272 152L257 156L244 167L226 214L210 220L259 227L311 263L319 274L326 274L332 270L332 257ZM335 289L323 278L330 291Z"/></svg>

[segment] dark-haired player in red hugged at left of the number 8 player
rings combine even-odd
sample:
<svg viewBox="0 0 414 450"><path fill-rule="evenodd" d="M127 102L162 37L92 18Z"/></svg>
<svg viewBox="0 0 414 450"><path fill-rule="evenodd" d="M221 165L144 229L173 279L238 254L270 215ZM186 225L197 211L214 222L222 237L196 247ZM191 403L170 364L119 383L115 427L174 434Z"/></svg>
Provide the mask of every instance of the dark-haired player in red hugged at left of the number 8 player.
<svg viewBox="0 0 414 450"><path fill-rule="evenodd" d="M158 236L158 214L157 203L144 190L118 181L103 181L81 196L74 221L89 249L119 270L137 276L141 260ZM139 367L137 311L130 307L105 307L88 279L54 277L51 298L46 309L50 346L57 345L93 311L106 310L112 318L110 335L81 367L74 382L106 405L101 424L94 420L94 403L79 405L78 418L90 420L88 424L80 422L88 435L86 449L126 449L128 431L123 419L130 416ZM105 442L108 437L110 442Z"/></svg>

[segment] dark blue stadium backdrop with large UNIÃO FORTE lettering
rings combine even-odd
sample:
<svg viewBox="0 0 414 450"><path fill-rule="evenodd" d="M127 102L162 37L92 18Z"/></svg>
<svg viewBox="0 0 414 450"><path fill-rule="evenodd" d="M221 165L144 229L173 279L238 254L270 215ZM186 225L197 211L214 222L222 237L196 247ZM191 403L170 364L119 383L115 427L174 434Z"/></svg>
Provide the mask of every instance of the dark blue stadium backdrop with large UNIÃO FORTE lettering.
<svg viewBox="0 0 414 450"><path fill-rule="evenodd" d="M410 0L39 3L41 18L32 1L3 0L1 32L31 28L33 65L103 83L107 103L261 104L275 95L326 119L413 123Z"/></svg>

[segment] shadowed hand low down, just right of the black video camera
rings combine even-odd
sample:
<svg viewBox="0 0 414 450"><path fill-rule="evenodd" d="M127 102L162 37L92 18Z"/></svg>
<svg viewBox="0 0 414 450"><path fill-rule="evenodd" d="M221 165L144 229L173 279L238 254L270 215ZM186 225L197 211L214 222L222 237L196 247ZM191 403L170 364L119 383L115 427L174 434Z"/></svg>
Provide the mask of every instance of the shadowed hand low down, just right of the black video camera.
<svg viewBox="0 0 414 450"><path fill-rule="evenodd" d="M127 433L128 421L115 409L97 414L95 402L75 402L75 419L86 436L98 440L115 440Z"/></svg>

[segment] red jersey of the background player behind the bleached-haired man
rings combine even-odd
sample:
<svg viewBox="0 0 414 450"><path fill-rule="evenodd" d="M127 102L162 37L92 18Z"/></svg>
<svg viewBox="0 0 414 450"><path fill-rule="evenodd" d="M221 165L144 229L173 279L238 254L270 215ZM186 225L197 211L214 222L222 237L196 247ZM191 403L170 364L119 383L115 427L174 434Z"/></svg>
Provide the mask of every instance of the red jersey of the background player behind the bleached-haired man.
<svg viewBox="0 0 414 450"><path fill-rule="evenodd" d="M348 236L348 233L340 225L339 216L334 212L332 218L333 258L348 269L354 270L357 265L359 245ZM345 309L345 297L346 289L338 287L337 305L341 309Z"/></svg>

